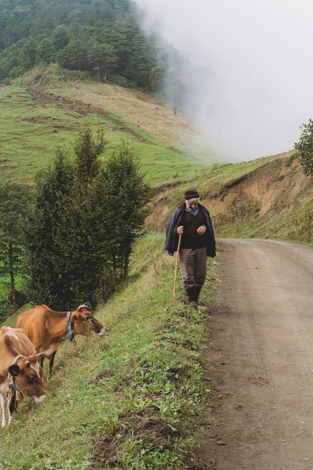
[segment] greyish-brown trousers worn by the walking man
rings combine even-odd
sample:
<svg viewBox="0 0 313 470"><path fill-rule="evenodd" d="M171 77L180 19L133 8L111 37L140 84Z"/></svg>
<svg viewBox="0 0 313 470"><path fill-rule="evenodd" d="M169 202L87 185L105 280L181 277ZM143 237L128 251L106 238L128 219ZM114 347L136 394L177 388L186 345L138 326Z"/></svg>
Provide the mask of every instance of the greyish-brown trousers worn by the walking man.
<svg viewBox="0 0 313 470"><path fill-rule="evenodd" d="M203 286L206 280L206 246L198 250L181 248L179 250L180 272L183 287Z"/></svg>

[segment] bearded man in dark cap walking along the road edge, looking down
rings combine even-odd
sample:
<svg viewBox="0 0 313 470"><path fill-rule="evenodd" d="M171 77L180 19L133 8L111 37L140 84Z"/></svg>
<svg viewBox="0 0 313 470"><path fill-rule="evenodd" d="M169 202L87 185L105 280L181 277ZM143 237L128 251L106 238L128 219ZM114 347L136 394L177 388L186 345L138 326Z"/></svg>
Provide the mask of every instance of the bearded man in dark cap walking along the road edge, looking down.
<svg viewBox="0 0 313 470"><path fill-rule="evenodd" d="M184 202L168 220L164 250L173 256L177 251L179 235L182 240L179 250L180 271L189 306L198 306L198 297L206 279L206 257L214 258L215 239L210 214L199 204L199 193L188 189Z"/></svg>

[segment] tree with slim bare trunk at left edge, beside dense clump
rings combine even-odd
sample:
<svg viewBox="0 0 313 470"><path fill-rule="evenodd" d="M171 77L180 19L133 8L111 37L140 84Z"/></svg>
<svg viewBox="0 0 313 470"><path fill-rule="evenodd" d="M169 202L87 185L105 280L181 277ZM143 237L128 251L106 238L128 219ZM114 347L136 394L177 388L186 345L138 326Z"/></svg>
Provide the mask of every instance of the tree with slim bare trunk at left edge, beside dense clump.
<svg viewBox="0 0 313 470"><path fill-rule="evenodd" d="M10 276L9 298L16 305L15 276L21 273L23 220L30 190L17 183L0 184L0 274Z"/></svg>

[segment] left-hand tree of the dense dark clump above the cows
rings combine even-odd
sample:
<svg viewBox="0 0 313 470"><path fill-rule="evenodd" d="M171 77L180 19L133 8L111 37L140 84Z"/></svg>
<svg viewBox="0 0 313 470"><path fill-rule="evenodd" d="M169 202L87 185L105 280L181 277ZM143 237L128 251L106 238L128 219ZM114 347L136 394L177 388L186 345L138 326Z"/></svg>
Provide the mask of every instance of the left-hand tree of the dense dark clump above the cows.
<svg viewBox="0 0 313 470"><path fill-rule="evenodd" d="M64 292L57 266L60 254L55 252L54 244L56 222L62 200L73 184L72 165L64 154L64 150L58 150L52 164L37 173L34 201L25 224L24 270L29 298L35 304L45 303L57 310L57 294L62 299Z"/></svg>

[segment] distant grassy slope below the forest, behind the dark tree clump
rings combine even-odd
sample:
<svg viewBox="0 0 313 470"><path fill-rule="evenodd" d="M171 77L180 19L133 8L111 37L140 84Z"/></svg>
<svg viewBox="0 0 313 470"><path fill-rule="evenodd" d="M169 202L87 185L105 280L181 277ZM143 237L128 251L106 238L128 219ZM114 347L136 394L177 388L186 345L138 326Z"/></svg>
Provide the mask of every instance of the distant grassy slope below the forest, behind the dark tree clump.
<svg viewBox="0 0 313 470"><path fill-rule="evenodd" d="M83 117L71 104L75 101L92 103L140 134L142 139L125 132L107 132L103 157L121 138L126 139L138 152L142 170L153 187L188 180L195 166L231 158L196 132L186 118L174 118L170 110L139 91L92 82L62 83L51 74L45 78L48 83L44 92L68 100L67 109L61 109L61 103L34 102L23 80L0 89L0 169L4 178L31 182L34 172L50 161L59 145L75 140L82 121L115 126L110 118L91 111ZM4 98L6 94L12 98Z"/></svg>

